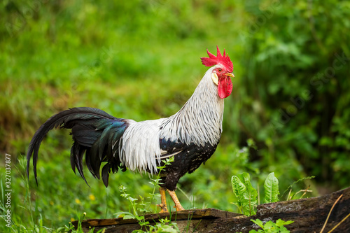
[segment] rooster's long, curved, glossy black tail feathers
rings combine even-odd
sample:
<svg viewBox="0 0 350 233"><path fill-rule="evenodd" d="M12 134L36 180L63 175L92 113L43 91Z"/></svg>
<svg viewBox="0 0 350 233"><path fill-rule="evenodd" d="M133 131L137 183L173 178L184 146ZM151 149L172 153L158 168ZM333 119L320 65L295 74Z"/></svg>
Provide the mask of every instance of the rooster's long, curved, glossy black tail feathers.
<svg viewBox="0 0 350 233"><path fill-rule="evenodd" d="M27 176L29 178L30 159L33 155L33 168L36 184L38 184L36 164L38 150L45 135L54 128L61 127L71 129L73 146L71 147L71 168L78 172L87 183L83 174L83 156L87 168L95 178L100 178L99 169L102 162L107 164L102 169L102 180L108 185L109 173L125 167L120 164L118 148L112 149L113 144L118 144L120 137L128 126L127 120L115 118L97 108L69 108L49 118L36 131L31 139L27 152Z"/></svg>

